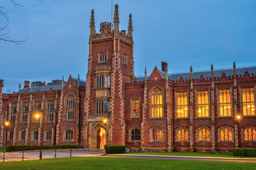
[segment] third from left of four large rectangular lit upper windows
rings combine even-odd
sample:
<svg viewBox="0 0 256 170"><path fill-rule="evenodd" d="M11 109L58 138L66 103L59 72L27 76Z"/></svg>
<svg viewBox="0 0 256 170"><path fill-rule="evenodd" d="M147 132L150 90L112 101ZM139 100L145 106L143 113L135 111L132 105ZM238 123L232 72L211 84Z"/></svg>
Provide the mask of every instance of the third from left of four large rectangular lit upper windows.
<svg viewBox="0 0 256 170"><path fill-rule="evenodd" d="M230 89L220 89L219 99L220 99L220 116L221 117L231 116Z"/></svg>

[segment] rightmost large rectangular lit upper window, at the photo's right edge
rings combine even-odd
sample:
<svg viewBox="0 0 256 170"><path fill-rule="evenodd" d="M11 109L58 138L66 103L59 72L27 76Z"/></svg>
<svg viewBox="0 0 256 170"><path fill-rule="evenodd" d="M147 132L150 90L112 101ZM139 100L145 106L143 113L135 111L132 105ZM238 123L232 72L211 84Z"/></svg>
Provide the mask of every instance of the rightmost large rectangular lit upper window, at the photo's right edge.
<svg viewBox="0 0 256 170"><path fill-rule="evenodd" d="M243 88L243 115L244 116L254 116L255 115L255 103L254 103L254 91L252 87Z"/></svg>

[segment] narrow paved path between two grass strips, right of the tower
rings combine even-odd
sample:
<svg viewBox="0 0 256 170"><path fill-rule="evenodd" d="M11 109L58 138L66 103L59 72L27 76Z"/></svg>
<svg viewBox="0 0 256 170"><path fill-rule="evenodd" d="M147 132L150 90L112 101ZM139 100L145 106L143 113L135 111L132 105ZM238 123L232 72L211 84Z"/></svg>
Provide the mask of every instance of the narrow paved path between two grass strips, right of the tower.
<svg viewBox="0 0 256 170"><path fill-rule="evenodd" d="M169 155L132 155L132 154L108 154L103 157L123 157L138 159L172 159L172 160L205 160L205 161L221 161L221 162L254 162L256 159L251 158L228 158L228 157L188 157L188 156L169 156Z"/></svg>

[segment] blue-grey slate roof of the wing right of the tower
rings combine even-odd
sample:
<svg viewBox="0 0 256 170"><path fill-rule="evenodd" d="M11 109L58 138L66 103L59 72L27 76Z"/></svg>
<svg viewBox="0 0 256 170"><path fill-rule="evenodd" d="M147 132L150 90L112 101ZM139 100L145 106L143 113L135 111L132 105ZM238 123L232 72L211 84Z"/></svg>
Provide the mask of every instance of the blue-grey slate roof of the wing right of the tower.
<svg viewBox="0 0 256 170"><path fill-rule="evenodd" d="M236 74L244 74L246 71L248 71L249 74L256 73L256 66L247 66L247 67L236 67ZM163 71L160 71L160 73L163 75L165 78L166 73ZM213 70L213 76L214 77L221 77L221 75L225 73L226 76L232 76L234 74L233 68L227 68L227 69L214 69ZM195 71L193 72L193 78L200 78L201 75L204 76L204 78L211 78L211 70L205 70L205 71ZM190 79L190 72L186 73L168 73L168 78L170 80L179 80L180 77L183 77L184 80L189 80ZM144 80L144 76L139 76L136 77L138 81ZM148 79L148 77L147 77Z"/></svg>

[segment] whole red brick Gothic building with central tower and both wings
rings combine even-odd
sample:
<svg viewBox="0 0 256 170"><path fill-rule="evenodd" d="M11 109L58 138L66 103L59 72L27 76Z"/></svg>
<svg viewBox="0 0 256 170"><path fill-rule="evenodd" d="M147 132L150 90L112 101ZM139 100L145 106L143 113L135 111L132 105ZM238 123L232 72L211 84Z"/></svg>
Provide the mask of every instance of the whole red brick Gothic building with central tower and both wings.
<svg viewBox="0 0 256 170"><path fill-rule="evenodd" d="M168 74L162 62L161 70L136 77L131 15L128 32L119 31L118 6L113 28L102 22L99 33L92 11L89 49L86 81L79 75L47 84L25 81L13 94L3 94L0 81L0 145L7 139L11 145L109 143L168 152L256 148L256 67L234 63ZM11 123L7 133L5 121Z"/></svg>

